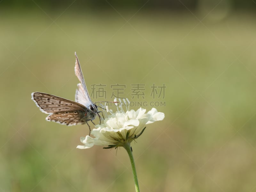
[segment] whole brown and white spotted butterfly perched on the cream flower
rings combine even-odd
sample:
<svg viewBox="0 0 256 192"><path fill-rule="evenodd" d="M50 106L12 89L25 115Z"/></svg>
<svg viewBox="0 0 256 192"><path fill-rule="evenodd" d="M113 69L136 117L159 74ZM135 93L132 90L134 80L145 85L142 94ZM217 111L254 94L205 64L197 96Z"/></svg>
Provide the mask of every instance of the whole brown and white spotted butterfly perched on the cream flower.
<svg viewBox="0 0 256 192"><path fill-rule="evenodd" d="M75 101L42 92L31 93L31 99L42 112L50 114L46 117L47 121L54 121L68 126L86 123L91 133L88 121L93 123L92 120L94 120L96 115L101 118L99 113L102 113L102 111L98 111L98 106L92 102L89 96L76 52L75 56L75 74L80 81L80 83L77 84L78 89L76 90Z"/></svg>

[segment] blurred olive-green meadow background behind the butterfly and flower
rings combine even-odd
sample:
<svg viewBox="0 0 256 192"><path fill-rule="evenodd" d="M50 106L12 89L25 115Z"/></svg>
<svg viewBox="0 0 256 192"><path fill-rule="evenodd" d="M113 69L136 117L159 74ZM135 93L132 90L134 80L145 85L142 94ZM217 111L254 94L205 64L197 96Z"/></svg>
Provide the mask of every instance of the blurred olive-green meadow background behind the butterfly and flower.
<svg viewBox="0 0 256 192"><path fill-rule="evenodd" d="M141 191L256 191L255 8L0 1L0 191L134 191L123 148L76 149L87 125L47 122L31 100L74 100L75 51L90 93L106 84L112 100L118 83L131 101L166 103L156 107L165 119L132 143ZM132 99L137 83L145 99ZM164 99L150 97L154 83L166 85Z"/></svg>

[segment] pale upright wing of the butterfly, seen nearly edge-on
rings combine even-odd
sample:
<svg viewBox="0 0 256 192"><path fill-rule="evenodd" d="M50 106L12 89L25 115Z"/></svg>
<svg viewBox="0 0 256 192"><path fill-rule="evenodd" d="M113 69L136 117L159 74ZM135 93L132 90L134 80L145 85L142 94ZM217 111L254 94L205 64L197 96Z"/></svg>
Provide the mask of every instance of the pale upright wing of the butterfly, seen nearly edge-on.
<svg viewBox="0 0 256 192"><path fill-rule="evenodd" d="M76 55L76 52L75 52L75 56L76 56L75 74L82 85L82 86L78 86L78 90L76 91L76 98L77 98L77 95L79 95L78 96L80 98L79 103L83 103L84 106L89 107L89 105L92 104L92 101L91 101L91 98L89 96L88 90L87 90L85 82L84 82L84 76L83 76L81 66L80 66L78 57ZM81 96L81 94L84 94L84 96Z"/></svg>

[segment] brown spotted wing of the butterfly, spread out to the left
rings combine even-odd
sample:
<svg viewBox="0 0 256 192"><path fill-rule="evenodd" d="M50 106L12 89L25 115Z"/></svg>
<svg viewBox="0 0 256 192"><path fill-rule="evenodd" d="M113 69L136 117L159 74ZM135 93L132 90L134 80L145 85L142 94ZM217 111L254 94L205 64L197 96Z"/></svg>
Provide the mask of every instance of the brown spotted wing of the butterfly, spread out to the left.
<svg viewBox="0 0 256 192"><path fill-rule="evenodd" d="M37 107L50 114L46 117L47 121L66 125L84 124L86 121L87 108L80 103L41 92L31 95Z"/></svg>

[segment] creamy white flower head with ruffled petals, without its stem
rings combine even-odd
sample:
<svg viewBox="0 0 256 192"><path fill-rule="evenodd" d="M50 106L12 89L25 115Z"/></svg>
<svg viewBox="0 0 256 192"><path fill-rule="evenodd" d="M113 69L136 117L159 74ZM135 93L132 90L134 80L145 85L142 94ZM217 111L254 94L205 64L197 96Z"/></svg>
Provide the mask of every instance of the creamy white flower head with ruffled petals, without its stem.
<svg viewBox="0 0 256 192"><path fill-rule="evenodd" d="M129 102L129 101L128 101ZM108 111L108 106L106 106ZM94 138L87 135L81 137L81 142L84 145L78 145L79 149L91 148L93 145L106 146L105 148L121 147L124 143L131 143L137 139L145 130L145 125L155 121L164 119L164 113L157 112L156 108L152 108L148 113L146 109L139 108L137 111L128 110L124 112L122 102L116 113L108 115L104 122L95 126L91 134Z"/></svg>

